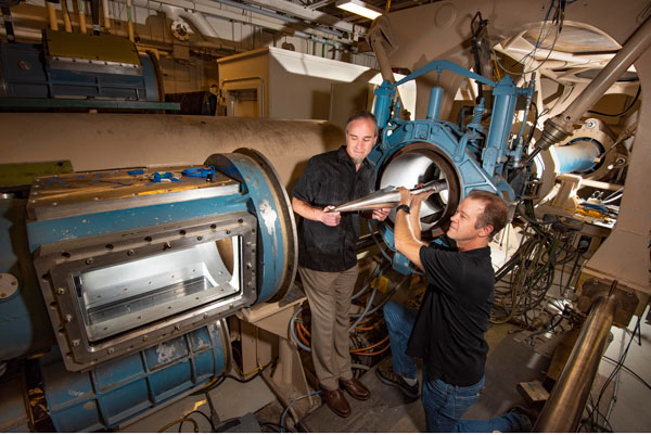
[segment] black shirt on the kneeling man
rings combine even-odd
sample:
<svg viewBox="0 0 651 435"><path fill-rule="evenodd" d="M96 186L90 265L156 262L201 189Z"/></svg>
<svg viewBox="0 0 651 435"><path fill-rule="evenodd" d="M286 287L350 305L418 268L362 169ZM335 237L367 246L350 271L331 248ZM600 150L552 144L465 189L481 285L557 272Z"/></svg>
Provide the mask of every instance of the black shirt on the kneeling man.
<svg viewBox="0 0 651 435"><path fill-rule="evenodd" d="M420 248L427 291L407 345L433 379L474 385L484 375L484 333L493 307L495 272L490 248L452 252L435 244Z"/></svg>

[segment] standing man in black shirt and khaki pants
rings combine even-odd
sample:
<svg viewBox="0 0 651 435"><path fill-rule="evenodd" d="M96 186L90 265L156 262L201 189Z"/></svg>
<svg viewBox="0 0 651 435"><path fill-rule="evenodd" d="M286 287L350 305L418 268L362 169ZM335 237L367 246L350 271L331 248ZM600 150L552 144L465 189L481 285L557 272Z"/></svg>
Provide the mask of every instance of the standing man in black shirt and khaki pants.
<svg viewBox="0 0 651 435"><path fill-rule="evenodd" d="M303 217L298 227L298 273L311 311L312 360L324 401L341 417L350 413L350 405L340 385L358 400L368 399L371 393L353 378L349 355L359 214L328 210L373 192L375 169L366 157L376 139L373 114L356 112L346 124L346 145L311 157L292 191L292 207ZM388 212L380 208L366 217L384 220Z"/></svg>

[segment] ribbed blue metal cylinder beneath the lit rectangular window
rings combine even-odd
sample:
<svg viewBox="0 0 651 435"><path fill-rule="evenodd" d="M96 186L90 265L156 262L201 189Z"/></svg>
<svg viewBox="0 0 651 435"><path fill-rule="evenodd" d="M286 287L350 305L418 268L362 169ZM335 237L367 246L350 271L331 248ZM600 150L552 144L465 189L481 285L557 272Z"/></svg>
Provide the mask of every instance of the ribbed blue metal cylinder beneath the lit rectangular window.
<svg viewBox="0 0 651 435"><path fill-rule="evenodd" d="M67 371L55 349L40 360L52 423L58 432L114 428L225 373L229 345L221 320L84 373Z"/></svg>

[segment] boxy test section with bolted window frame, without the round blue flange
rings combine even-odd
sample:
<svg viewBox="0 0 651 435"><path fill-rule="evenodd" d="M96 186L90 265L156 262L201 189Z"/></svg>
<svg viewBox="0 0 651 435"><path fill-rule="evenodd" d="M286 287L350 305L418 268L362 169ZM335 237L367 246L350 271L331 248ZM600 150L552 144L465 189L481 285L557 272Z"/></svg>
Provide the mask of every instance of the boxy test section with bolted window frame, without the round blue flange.
<svg viewBox="0 0 651 435"><path fill-rule="evenodd" d="M173 222L175 208L186 204L175 202L222 201L240 193L239 183L218 172L209 183L188 177L152 182L139 172L63 175L33 187L27 214L36 220L28 228L37 240L43 232L92 233L42 244L35 256L50 318L60 327L59 345L72 354L71 370L133 349L145 335L162 338L169 327L187 329L197 318L214 319L256 299L254 216L233 210L206 218L195 212ZM135 212L141 207L154 207L153 220L167 222L148 226L151 218ZM63 223L72 221L77 225ZM143 227L127 229L138 222ZM104 230L88 230L95 225ZM103 234L110 226L122 231Z"/></svg>

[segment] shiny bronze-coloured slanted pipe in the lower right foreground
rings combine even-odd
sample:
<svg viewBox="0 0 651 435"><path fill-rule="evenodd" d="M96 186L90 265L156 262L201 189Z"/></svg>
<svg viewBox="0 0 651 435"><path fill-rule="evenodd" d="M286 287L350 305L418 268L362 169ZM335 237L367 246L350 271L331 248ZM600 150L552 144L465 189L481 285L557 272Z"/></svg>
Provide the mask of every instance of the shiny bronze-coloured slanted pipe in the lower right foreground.
<svg viewBox="0 0 651 435"><path fill-rule="evenodd" d="M551 391L533 432L575 432L586 406L618 302L599 297L583 324L570 359Z"/></svg>

